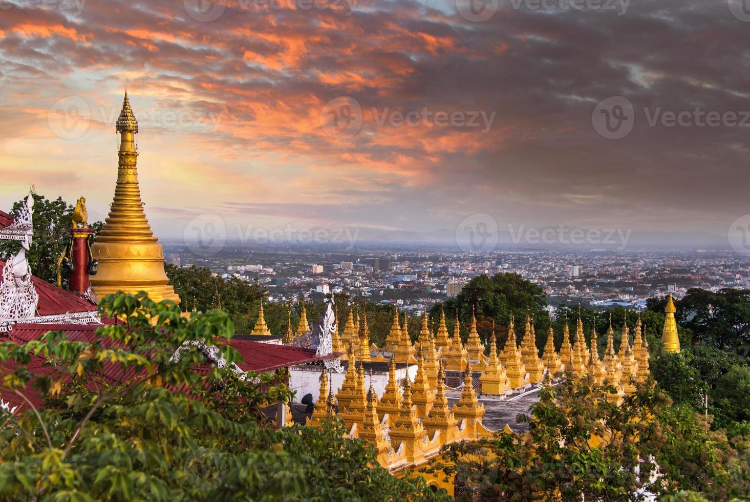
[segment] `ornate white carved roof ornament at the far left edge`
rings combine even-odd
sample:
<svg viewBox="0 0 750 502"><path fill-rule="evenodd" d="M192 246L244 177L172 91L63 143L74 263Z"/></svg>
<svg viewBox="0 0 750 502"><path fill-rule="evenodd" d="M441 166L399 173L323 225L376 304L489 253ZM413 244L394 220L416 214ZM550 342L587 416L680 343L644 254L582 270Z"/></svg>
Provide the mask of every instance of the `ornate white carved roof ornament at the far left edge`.
<svg viewBox="0 0 750 502"><path fill-rule="evenodd" d="M39 295L31 281L31 267L26 260L26 251L31 249L31 215L34 210L34 197L28 194L26 206L19 217L5 230L26 232L21 239L21 249L6 260L0 284L0 320L26 320L34 317Z"/></svg>

